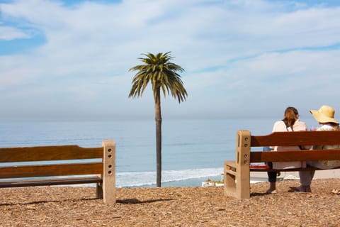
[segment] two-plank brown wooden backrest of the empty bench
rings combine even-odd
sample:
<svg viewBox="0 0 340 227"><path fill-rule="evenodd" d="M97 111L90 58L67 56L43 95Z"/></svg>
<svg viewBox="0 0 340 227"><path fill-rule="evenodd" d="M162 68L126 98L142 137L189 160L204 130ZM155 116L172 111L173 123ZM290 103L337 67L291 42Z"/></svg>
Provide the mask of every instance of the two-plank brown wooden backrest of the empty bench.
<svg viewBox="0 0 340 227"><path fill-rule="evenodd" d="M2 179L103 174L103 148L0 148L0 163Z"/></svg>

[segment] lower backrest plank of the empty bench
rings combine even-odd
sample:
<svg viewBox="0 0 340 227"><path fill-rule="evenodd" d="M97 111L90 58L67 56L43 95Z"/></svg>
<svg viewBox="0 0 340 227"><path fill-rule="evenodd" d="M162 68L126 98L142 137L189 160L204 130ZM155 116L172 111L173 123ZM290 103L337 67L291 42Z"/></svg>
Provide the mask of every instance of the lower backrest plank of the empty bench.
<svg viewBox="0 0 340 227"><path fill-rule="evenodd" d="M0 167L0 178L101 175L103 162Z"/></svg>

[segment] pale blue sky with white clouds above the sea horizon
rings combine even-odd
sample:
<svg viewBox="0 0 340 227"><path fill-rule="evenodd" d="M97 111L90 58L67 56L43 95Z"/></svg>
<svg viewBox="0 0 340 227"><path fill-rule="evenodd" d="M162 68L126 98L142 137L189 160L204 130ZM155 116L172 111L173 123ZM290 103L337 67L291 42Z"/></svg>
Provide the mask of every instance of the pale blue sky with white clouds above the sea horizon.
<svg viewBox="0 0 340 227"><path fill-rule="evenodd" d="M0 0L0 119L153 119L151 87L128 98L149 52L185 70L163 119L340 119L340 1L317 0Z"/></svg>

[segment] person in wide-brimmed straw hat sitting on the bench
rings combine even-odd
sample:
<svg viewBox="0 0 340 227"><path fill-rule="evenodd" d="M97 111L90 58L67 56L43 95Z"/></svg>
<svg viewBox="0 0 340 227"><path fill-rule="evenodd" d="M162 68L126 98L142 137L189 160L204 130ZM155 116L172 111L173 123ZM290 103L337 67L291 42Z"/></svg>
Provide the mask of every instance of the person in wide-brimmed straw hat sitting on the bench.
<svg viewBox="0 0 340 227"><path fill-rule="evenodd" d="M315 120L319 122L321 127L317 128L317 131L338 131L339 121L334 118L335 111L331 106L321 106L319 110L310 111ZM340 145L322 145L313 146L313 149L334 149L340 148ZM334 167L340 166L340 160L324 160L324 161L307 161L307 165L312 167L317 167L319 169L333 169ZM312 192L310 189L310 184L314 177L314 170L311 171L300 171L300 183L299 187L291 187L295 192Z"/></svg>

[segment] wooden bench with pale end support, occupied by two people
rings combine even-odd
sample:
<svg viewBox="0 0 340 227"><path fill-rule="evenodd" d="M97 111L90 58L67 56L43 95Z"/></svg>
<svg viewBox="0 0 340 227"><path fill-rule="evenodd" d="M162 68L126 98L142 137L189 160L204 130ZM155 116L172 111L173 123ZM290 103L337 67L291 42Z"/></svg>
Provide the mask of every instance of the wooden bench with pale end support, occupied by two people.
<svg viewBox="0 0 340 227"><path fill-rule="evenodd" d="M251 171L301 171L320 170L314 167L271 170L251 167L263 162L293 162L307 160L340 160L340 149L331 150L285 150L263 152L265 146L337 145L340 131L280 132L270 135L251 135L250 131L237 131L236 160L224 162L225 195L238 199L250 198ZM253 150L253 149L258 149Z"/></svg>

